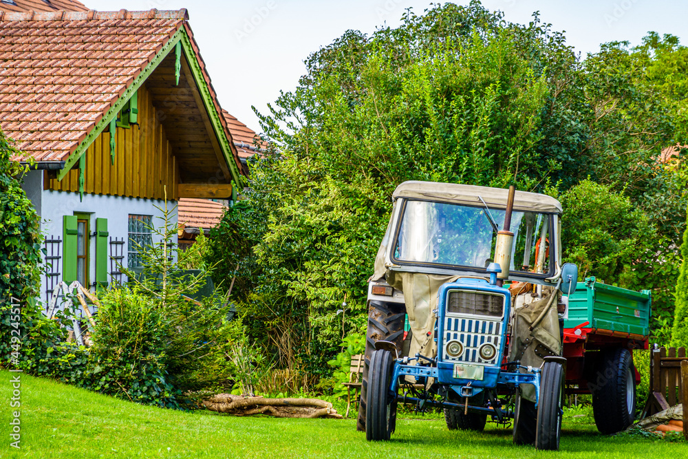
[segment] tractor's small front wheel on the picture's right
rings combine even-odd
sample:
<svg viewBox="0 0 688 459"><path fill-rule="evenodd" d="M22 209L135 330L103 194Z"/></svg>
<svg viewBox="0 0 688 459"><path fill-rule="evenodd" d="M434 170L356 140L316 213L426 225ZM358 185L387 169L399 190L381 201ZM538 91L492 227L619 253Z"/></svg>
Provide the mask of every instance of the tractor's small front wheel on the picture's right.
<svg viewBox="0 0 688 459"><path fill-rule="evenodd" d="M559 449L563 416L563 365L546 361L542 367L540 396L537 404L535 447Z"/></svg>

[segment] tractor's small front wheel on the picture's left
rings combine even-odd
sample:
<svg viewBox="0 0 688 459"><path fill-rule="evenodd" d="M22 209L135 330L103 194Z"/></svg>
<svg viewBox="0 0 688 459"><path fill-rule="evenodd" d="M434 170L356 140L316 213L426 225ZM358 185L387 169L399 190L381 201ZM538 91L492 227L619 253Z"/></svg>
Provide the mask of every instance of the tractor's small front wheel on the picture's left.
<svg viewBox="0 0 688 459"><path fill-rule="evenodd" d="M389 394L394 359L387 350L370 356L370 374L365 419L366 440L389 440L396 427L396 398Z"/></svg>

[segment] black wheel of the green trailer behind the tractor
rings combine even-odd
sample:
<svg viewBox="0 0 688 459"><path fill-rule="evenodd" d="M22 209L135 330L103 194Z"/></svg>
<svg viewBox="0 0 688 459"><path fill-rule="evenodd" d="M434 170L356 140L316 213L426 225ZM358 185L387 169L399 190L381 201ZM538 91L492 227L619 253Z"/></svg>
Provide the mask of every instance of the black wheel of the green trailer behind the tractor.
<svg viewBox="0 0 688 459"><path fill-rule="evenodd" d="M630 426L636 414L636 377L629 350L604 352L591 381L592 414L597 430L614 434Z"/></svg>

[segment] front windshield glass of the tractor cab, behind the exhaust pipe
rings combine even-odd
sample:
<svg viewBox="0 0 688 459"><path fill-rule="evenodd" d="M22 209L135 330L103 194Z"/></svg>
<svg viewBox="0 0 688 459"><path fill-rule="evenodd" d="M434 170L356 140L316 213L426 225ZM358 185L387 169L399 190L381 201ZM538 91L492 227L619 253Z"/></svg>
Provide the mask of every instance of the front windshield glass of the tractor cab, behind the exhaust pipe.
<svg viewBox="0 0 688 459"><path fill-rule="evenodd" d="M407 200L394 246L400 264L441 264L486 268L494 260L497 230L504 229L499 209ZM491 222L494 220L494 222ZM513 211L511 270L550 272L550 214Z"/></svg>

